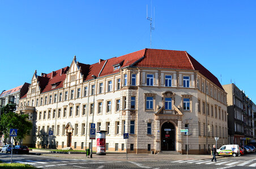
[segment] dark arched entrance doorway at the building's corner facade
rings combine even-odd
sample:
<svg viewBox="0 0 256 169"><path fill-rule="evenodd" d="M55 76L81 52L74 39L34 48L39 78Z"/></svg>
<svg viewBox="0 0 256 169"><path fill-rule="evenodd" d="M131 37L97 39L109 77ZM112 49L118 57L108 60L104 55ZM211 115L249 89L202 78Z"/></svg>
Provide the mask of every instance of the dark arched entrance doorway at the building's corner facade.
<svg viewBox="0 0 256 169"><path fill-rule="evenodd" d="M165 122L161 127L161 151L174 151L175 140L175 126L170 122Z"/></svg>

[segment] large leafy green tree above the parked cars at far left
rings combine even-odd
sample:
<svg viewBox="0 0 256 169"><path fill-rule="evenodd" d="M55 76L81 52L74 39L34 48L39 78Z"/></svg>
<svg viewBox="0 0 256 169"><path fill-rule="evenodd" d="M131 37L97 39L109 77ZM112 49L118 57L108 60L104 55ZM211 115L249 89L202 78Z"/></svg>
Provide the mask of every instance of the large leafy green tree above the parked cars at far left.
<svg viewBox="0 0 256 169"><path fill-rule="evenodd" d="M17 128L18 134L14 138L15 144L24 139L28 131L32 129L32 123L27 121L28 114L18 114L14 112L4 113L1 116L0 131L5 135L5 139L9 137L10 129Z"/></svg>

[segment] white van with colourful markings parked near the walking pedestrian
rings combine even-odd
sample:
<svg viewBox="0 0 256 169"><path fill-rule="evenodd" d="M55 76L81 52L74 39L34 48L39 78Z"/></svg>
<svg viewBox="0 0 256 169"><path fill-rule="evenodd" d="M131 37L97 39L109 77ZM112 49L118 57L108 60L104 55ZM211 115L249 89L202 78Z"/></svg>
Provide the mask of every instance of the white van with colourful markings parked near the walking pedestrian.
<svg viewBox="0 0 256 169"><path fill-rule="evenodd" d="M240 148L237 144L223 145L220 149L217 149L218 155L232 155L236 157L240 155Z"/></svg>

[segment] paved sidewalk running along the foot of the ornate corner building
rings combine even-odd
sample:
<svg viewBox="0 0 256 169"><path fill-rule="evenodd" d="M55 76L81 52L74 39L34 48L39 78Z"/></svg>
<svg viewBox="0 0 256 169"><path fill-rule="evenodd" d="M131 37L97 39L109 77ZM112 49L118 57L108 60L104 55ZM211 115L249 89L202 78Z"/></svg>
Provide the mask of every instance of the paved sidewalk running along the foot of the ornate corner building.
<svg viewBox="0 0 256 169"><path fill-rule="evenodd" d="M42 153L42 151L33 150L31 153ZM126 154L106 154L96 155L92 154L92 158L86 157L86 154L61 154L61 153L42 153L42 155L52 157L65 157L76 159L88 159L95 161L127 161ZM127 154L128 161L170 161L170 160L201 160L211 159L212 155L176 155L176 154ZM216 157L222 158L222 156Z"/></svg>

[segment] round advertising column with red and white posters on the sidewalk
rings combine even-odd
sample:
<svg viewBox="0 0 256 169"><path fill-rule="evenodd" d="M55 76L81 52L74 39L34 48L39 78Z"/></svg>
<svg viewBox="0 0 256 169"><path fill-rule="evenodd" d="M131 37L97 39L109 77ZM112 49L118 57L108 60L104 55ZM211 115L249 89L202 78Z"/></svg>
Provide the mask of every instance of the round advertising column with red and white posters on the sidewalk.
<svg viewBox="0 0 256 169"><path fill-rule="evenodd" d="M106 131L97 131L97 155L106 155Z"/></svg>

